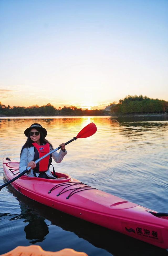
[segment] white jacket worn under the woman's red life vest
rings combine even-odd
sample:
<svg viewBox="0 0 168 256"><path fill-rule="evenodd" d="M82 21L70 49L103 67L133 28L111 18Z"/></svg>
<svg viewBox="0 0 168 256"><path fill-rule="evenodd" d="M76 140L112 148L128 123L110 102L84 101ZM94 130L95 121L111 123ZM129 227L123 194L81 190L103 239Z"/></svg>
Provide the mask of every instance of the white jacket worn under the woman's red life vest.
<svg viewBox="0 0 168 256"><path fill-rule="evenodd" d="M52 150L52 149L50 149ZM65 152L63 152L61 149L59 151L59 153L57 153L56 151L52 154L52 158L54 159L54 161L56 163L61 163L62 159L64 158L64 156L67 154L67 151L65 150ZM20 165L19 165L19 172L22 173L24 170L27 169L28 163L30 161L32 161L34 159L34 147L31 148L24 148L22 150L22 154L20 156ZM46 175L48 177L53 177L50 169L48 169L48 171L45 172ZM29 177L34 177L33 175L33 170L31 169L31 171L29 171L28 173L26 173L25 175L28 175ZM36 176L39 176L39 173L36 173ZM56 179L56 178L55 178Z"/></svg>

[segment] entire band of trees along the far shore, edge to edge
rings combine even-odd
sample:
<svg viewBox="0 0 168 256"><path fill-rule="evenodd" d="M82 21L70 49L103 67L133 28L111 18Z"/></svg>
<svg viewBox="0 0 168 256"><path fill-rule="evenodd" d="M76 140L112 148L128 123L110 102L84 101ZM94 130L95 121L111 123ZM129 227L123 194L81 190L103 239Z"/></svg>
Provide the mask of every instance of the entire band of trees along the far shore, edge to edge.
<svg viewBox="0 0 168 256"><path fill-rule="evenodd" d="M107 116L117 114L154 114L168 112L168 102L165 100L152 99L147 96L131 96L119 100L118 104L111 103L111 110L85 109L75 106L56 109L48 103L44 106L33 105L30 107L3 105L0 102L0 115L4 116Z"/></svg>

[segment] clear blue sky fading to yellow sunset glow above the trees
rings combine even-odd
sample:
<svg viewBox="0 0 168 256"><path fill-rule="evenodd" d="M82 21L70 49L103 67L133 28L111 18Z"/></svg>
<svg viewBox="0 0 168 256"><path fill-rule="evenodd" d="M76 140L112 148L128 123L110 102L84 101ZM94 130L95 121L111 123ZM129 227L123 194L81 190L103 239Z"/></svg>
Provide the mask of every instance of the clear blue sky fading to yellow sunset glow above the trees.
<svg viewBox="0 0 168 256"><path fill-rule="evenodd" d="M167 13L167 0L1 0L1 103L168 101Z"/></svg>

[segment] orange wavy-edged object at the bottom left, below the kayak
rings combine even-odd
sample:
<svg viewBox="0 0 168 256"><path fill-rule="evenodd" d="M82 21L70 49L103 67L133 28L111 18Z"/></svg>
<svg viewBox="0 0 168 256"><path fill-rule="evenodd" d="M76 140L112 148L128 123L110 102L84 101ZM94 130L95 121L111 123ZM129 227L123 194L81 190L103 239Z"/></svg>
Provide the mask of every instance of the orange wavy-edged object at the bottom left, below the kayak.
<svg viewBox="0 0 168 256"><path fill-rule="evenodd" d="M84 252L76 252L74 249L63 249L58 252L44 251L39 245L18 246L10 252L0 256L88 256Z"/></svg>

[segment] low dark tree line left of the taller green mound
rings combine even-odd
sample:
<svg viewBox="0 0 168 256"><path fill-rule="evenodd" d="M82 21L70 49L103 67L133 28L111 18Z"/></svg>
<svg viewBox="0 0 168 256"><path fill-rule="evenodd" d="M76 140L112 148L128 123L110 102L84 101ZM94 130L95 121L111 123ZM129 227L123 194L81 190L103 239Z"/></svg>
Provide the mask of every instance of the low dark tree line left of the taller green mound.
<svg viewBox="0 0 168 256"><path fill-rule="evenodd" d="M30 107L10 107L1 104L0 102L0 115L4 116L106 116L109 112L102 109L85 109L77 108L75 106L56 109L53 105L48 103L45 106L39 107L33 105Z"/></svg>

